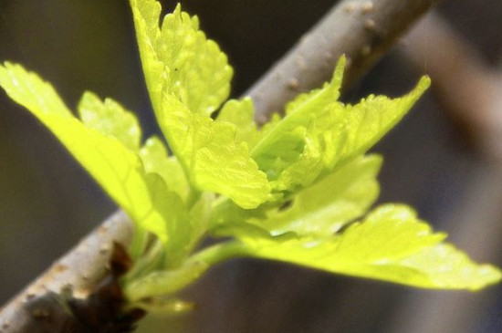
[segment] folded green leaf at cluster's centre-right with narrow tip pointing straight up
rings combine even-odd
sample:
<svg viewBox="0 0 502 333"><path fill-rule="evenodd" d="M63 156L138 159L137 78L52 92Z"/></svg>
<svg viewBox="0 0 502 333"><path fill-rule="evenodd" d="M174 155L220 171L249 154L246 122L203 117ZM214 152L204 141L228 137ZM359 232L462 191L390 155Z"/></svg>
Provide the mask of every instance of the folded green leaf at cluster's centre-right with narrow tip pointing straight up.
<svg viewBox="0 0 502 333"><path fill-rule="evenodd" d="M267 172L275 190L282 192L298 190L299 186L307 186L319 175L321 151L319 147L320 129L313 124L314 120L324 123L323 129L333 125L340 127L341 111L340 84L345 66L342 58L335 69L331 82L323 88L299 95L286 108L286 117L273 128L267 130L251 156L256 160L261 170ZM333 130L333 128L329 128ZM342 140L343 138L340 138ZM326 146L326 150L334 150L336 145ZM287 183L284 172L298 171L302 174L296 180ZM307 172L308 171L308 172ZM295 172L296 173L296 172ZM299 185L298 183L301 183Z"/></svg>

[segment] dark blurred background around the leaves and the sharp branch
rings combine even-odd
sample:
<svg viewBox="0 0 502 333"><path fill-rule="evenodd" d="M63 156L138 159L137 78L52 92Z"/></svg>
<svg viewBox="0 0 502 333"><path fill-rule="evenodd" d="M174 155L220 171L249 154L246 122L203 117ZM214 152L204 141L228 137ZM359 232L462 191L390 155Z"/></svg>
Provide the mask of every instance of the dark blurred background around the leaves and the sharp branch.
<svg viewBox="0 0 502 333"><path fill-rule="evenodd" d="M228 54L235 68L235 97L333 4L183 1L184 9L201 17L204 31ZM174 2L162 5L171 10ZM465 38L476 64L482 64L490 78L497 73L502 2L450 0L437 10L455 34ZM462 57L453 53L441 63L434 52L411 57L410 53L420 54L414 51L419 44L414 41L403 38L344 99L355 101L370 92L403 94L429 68L458 64ZM444 43L428 47L445 49ZM0 0L0 59L37 71L72 108L89 89L135 110L145 136L158 131L125 0ZM442 80L438 78L439 88L428 92L373 149L385 157L380 201L413 205L424 220L451 234L451 240L476 260L501 265L502 163L495 154L479 149L479 128L459 121L455 106L444 98L451 94L472 101L469 94L478 96L483 86L474 84L473 78L470 88L444 92L449 85ZM3 91L0 188L0 304L116 209L58 141ZM184 297L196 303L193 312L149 317L141 332L502 331L502 286L476 294L424 291L239 260L216 267Z"/></svg>

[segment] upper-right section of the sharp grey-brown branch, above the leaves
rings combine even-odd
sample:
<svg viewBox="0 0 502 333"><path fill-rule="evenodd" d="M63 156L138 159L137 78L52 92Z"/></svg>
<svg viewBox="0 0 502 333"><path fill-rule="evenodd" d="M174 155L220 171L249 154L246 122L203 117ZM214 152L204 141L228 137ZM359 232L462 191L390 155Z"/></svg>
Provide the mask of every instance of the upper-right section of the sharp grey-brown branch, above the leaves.
<svg viewBox="0 0 502 333"><path fill-rule="evenodd" d="M347 88L371 68L399 37L440 0L343 0L267 74L250 88L256 121L280 111L300 92L329 81L337 59L345 54Z"/></svg>

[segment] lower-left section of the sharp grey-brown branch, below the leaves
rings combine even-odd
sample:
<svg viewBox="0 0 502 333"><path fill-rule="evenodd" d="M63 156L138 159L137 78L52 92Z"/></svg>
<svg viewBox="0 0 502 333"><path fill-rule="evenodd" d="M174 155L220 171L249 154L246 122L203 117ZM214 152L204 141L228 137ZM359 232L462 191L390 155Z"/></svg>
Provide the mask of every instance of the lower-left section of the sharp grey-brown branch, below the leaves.
<svg viewBox="0 0 502 333"><path fill-rule="evenodd" d="M132 224L126 214L119 211L111 215L2 308L0 332L52 332L43 327L44 322L66 320L58 317L58 310L47 312L47 303L59 301L53 295L61 294L69 286L75 297L87 297L89 290L98 286L109 271L113 242L128 246L131 238Z"/></svg>

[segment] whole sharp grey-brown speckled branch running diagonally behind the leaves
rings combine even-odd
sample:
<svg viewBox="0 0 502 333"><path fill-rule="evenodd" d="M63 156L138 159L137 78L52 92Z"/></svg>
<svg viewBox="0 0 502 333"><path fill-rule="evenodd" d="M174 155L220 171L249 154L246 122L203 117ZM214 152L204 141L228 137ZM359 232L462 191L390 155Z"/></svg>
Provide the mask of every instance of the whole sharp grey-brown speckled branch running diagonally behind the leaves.
<svg viewBox="0 0 502 333"><path fill-rule="evenodd" d="M256 103L256 119L265 121L299 92L319 87L329 79L341 54L350 59L348 81L358 78L435 2L438 0L341 1L248 91ZM125 213L114 213L2 309L0 332L56 331L54 326L52 330L42 327L42 323L56 320L57 314L47 313L40 300L54 303L54 295L61 294L65 286L71 286L74 296L89 296L108 272L112 242L130 245L131 230Z"/></svg>

